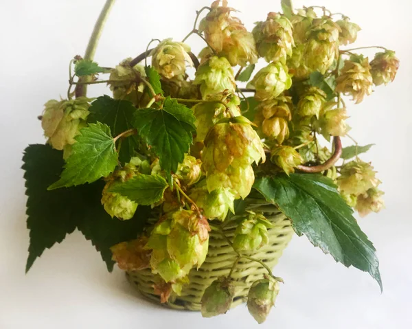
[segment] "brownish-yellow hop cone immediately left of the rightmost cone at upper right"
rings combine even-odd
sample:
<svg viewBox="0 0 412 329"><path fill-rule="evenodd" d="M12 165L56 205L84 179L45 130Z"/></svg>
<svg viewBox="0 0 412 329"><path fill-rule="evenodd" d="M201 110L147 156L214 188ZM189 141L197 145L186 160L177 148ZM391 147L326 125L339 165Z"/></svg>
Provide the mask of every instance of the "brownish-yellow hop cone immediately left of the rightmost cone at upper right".
<svg viewBox="0 0 412 329"><path fill-rule="evenodd" d="M362 102L365 95L372 93L373 79L367 58L352 56L345 60L341 75L336 79L336 91L352 95L356 104Z"/></svg>

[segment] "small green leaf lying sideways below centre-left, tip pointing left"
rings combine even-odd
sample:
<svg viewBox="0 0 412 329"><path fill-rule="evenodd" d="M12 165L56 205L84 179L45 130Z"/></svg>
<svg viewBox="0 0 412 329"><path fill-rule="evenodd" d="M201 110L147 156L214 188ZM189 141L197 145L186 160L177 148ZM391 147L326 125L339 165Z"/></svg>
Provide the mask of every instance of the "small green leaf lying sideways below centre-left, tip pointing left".
<svg viewBox="0 0 412 329"><path fill-rule="evenodd" d="M163 198L167 187L168 183L159 175L138 174L124 183L114 184L108 192L122 194L139 205L152 205Z"/></svg>

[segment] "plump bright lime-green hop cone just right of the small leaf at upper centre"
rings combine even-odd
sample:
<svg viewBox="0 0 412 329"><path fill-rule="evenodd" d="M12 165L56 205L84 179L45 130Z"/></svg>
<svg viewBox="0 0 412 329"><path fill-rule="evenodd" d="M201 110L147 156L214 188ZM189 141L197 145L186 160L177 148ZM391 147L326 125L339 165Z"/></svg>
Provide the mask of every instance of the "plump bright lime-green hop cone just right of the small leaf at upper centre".
<svg viewBox="0 0 412 329"><path fill-rule="evenodd" d="M271 100L292 86L292 78L286 65L280 62L271 63L256 73L249 86L256 89L257 100Z"/></svg>

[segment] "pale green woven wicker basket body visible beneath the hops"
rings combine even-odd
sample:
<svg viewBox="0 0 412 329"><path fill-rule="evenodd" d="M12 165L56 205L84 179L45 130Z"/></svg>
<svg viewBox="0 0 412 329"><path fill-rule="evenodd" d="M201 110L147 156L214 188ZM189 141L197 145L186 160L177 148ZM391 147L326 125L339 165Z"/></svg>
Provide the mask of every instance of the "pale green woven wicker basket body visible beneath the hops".
<svg viewBox="0 0 412 329"><path fill-rule="evenodd" d="M273 227L268 229L269 243L258 251L245 253L258 260L262 260L267 266L273 268L277 264L284 249L287 247L294 231L290 220L280 212L265 213ZM228 223L225 227L225 235L232 240L236 230L236 223ZM229 246L225 238L219 232L211 231L209 237L209 251L205 262L199 269L192 269L189 273L190 283L183 286L180 296L173 295L164 306L178 310L201 310L201 298L205 289L218 277L227 276L235 262L237 254ZM267 273L262 264L242 258L231 277L236 281L236 292L231 307L246 302L249 287ZM276 274L275 274L276 275ZM152 286L156 276L150 269L126 273L128 280L144 297L152 302L160 304L159 295L155 295Z"/></svg>

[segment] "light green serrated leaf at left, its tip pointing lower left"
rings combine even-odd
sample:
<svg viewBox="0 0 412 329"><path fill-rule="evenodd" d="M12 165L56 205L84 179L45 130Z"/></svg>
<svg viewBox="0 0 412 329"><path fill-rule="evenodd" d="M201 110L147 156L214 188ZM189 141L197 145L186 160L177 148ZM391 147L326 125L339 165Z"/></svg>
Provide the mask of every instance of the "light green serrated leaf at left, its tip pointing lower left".
<svg viewBox="0 0 412 329"><path fill-rule="evenodd" d="M56 183L48 190L92 183L101 177L107 177L117 166L115 141L110 128L98 122L80 129L75 137L76 143L65 164L65 170Z"/></svg>

